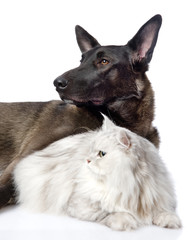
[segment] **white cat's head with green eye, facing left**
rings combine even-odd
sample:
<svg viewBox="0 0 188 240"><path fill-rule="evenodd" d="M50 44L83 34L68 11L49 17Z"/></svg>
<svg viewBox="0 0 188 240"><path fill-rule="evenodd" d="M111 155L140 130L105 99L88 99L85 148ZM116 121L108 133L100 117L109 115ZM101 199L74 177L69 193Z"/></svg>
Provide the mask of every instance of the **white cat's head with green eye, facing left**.
<svg viewBox="0 0 188 240"><path fill-rule="evenodd" d="M102 127L90 143L90 153L86 160L88 168L98 176L109 175L120 167L122 161L129 161L131 152L130 131L103 117Z"/></svg>

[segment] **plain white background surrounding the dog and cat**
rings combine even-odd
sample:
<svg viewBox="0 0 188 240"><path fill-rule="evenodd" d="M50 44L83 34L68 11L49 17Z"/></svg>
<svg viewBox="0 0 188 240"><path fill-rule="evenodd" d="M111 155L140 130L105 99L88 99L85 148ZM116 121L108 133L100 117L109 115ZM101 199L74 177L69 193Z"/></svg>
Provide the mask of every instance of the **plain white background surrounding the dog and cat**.
<svg viewBox="0 0 188 240"><path fill-rule="evenodd" d="M160 153L172 173L182 230L114 232L68 217L0 211L0 239L188 239L188 5L179 0L0 0L0 101L59 99L53 80L79 65L74 27L102 45L126 44L153 15L163 25L148 77L156 96Z"/></svg>

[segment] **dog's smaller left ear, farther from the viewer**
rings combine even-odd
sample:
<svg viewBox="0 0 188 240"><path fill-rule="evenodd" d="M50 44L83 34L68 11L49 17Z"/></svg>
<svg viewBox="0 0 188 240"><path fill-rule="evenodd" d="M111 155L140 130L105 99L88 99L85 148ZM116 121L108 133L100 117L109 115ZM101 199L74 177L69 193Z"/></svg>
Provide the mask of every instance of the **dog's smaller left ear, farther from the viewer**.
<svg viewBox="0 0 188 240"><path fill-rule="evenodd" d="M75 30L78 46L80 47L82 53L87 52L96 46L100 46L97 40L82 27L77 25Z"/></svg>

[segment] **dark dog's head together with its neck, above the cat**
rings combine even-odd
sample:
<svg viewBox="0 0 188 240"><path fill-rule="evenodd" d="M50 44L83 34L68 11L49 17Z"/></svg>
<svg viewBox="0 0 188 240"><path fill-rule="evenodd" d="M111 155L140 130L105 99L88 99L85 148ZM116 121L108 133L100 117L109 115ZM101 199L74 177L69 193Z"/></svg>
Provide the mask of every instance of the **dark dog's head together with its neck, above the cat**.
<svg viewBox="0 0 188 240"><path fill-rule="evenodd" d="M97 106L116 124L158 147L158 134L151 126L153 91L145 72L160 26L161 16L156 15L125 46L101 46L77 26L77 41L83 53L81 65L54 81L61 99L77 106Z"/></svg>

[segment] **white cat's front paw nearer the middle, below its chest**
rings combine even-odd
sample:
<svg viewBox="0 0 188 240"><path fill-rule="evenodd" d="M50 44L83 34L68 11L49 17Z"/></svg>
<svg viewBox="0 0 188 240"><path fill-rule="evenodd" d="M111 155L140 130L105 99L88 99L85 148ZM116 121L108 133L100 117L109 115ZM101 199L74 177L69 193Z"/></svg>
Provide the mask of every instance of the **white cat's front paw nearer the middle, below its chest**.
<svg viewBox="0 0 188 240"><path fill-rule="evenodd" d="M131 231L139 227L138 221L129 213L112 213L102 223L116 231Z"/></svg>

